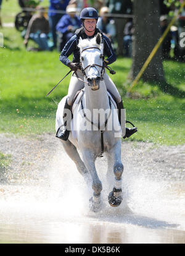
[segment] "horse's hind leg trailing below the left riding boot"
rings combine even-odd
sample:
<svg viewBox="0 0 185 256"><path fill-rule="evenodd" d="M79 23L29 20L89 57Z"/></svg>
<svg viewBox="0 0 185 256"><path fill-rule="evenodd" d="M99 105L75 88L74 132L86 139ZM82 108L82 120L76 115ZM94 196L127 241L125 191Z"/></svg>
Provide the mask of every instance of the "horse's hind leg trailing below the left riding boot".
<svg viewBox="0 0 185 256"><path fill-rule="evenodd" d="M79 173L84 177L86 182L89 182L89 179L90 179L89 172L86 166L84 165L83 161L81 160L75 145L73 145L73 143L70 142L70 140L67 140L65 142L61 140L61 142L62 142L62 145L64 146L64 149L67 155L75 162L76 168L78 169Z"/></svg>

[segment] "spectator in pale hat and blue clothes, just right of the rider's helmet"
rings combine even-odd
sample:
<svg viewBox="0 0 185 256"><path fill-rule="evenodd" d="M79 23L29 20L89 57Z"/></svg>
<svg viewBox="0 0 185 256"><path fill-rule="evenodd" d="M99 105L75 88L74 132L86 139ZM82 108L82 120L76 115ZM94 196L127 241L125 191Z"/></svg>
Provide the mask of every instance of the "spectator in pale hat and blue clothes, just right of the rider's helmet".
<svg viewBox="0 0 185 256"><path fill-rule="evenodd" d="M113 38L116 35L115 24L113 19L109 19L109 8L104 6L100 10L100 17L97 20L97 28L102 30L102 32L107 36L111 43L113 43Z"/></svg>

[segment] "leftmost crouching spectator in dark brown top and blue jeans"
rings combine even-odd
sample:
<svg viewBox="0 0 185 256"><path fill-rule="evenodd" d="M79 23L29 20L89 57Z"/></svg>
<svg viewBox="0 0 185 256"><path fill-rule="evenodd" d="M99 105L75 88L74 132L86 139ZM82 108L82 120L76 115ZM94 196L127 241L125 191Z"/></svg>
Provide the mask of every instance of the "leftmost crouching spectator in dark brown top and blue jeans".
<svg viewBox="0 0 185 256"><path fill-rule="evenodd" d="M37 7L38 14L34 14L28 23L24 44L28 45L28 39L34 40L41 50L49 51L47 34L49 33L49 21L44 17L44 7Z"/></svg>

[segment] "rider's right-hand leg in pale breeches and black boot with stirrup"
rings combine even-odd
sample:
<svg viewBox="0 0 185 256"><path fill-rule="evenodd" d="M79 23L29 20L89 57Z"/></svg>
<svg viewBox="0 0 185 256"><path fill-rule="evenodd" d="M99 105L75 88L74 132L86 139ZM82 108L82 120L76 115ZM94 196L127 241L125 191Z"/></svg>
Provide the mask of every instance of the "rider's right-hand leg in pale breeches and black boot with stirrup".
<svg viewBox="0 0 185 256"><path fill-rule="evenodd" d="M120 93L118 92L117 87L115 86L115 84L113 83L112 79L110 79L109 75L107 75L106 73L104 74L104 81L105 81L105 85L107 87L107 90L109 90L110 93L113 94L113 96L115 97L115 100L117 101L117 105L118 105L118 118L119 118L119 122L120 122L120 126L122 129L122 135L123 138L125 139L126 137L130 137L131 135L133 135L135 132L137 132L137 127L134 128L127 128L125 129L125 113L123 111L124 107L123 107L123 101L121 99Z"/></svg>

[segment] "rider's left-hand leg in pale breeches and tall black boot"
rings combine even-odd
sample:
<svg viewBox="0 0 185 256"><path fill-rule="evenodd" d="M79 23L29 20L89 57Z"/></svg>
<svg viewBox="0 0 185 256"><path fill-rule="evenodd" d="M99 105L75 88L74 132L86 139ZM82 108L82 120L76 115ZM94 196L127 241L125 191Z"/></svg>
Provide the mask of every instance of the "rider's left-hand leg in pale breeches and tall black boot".
<svg viewBox="0 0 185 256"><path fill-rule="evenodd" d="M77 73L78 73L78 77L80 77L80 79L83 80L84 79L83 74L78 71ZM70 129L67 129L67 125L70 124L70 121L72 119L72 113L71 112L69 113L67 111L71 111L73 98L75 97L76 92L78 92L78 90L81 90L83 87L84 87L84 83L78 80L76 75L73 74L68 87L67 100L65 101L65 106L64 106L64 114L63 114L63 119L65 118L64 126L62 127L62 129L59 129L56 134L56 137L59 139L62 139L62 140L68 139L68 136L70 134Z"/></svg>

